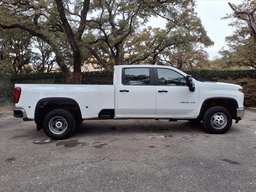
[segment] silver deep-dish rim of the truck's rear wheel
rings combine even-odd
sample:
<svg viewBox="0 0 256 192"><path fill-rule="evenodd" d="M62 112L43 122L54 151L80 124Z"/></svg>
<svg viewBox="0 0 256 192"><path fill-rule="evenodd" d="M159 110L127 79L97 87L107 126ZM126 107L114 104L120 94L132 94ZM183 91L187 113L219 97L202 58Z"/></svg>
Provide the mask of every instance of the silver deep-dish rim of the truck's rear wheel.
<svg viewBox="0 0 256 192"><path fill-rule="evenodd" d="M49 121L49 129L54 134L62 134L68 127L67 121L60 116L55 116Z"/></svg>

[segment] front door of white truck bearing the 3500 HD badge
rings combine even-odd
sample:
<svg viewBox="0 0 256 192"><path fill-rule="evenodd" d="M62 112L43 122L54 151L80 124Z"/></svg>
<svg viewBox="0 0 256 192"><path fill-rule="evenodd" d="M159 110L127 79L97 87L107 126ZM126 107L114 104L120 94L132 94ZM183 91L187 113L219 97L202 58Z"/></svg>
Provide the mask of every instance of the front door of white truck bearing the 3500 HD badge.
<svg viewBox="0 0 256 192"><path fill-rule="evenodd" d="M170 68L154 68L156 84L156 116L170 118L194 117L199 100L199 89L191 92L186 77Z"/></svg>

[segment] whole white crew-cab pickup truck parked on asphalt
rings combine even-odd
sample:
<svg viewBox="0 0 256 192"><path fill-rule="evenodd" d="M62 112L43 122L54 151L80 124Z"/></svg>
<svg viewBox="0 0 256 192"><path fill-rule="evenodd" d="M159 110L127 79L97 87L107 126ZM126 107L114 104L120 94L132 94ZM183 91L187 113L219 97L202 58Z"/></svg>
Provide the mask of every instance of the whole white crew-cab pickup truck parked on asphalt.
<svg viewBox="0 0 256 192"><path fill-rule="evenodd" d="M114 67L113 85L15 84L14 117L34 120L52 139L65 139L84 119L203 121L213 134L244 118L235 84L200 82L169 66Z"/></svg>

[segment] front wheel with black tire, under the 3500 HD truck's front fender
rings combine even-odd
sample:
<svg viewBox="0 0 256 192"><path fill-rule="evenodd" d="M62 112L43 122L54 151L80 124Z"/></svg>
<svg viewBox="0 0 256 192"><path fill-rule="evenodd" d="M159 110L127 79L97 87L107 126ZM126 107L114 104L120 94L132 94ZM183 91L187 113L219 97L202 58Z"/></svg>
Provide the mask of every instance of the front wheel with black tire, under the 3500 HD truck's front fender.
<svg viewBox="0 0 256 192"><path fill-rule="evenodd" d="M232 116L224 107L211 107L204 114L203 125L212 134L223 134L230 129Z"/></svg>

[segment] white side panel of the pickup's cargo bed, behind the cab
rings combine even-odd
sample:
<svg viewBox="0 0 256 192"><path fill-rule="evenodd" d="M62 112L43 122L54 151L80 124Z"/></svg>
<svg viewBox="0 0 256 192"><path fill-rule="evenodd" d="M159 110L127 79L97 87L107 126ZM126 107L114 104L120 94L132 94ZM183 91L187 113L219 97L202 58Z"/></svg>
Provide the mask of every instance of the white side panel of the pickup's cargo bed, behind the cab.
<svg viewBox="0 0 256 192"><path fill-rule="evenodd" d="M23 107L29 119L34 119L36 104L42 98L74 99L83 119L98 118L102 109L114 109L114 85L15 84L15 87L21 88L16 107Z"/></svg>

